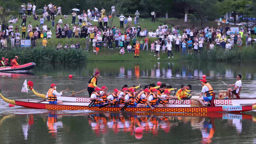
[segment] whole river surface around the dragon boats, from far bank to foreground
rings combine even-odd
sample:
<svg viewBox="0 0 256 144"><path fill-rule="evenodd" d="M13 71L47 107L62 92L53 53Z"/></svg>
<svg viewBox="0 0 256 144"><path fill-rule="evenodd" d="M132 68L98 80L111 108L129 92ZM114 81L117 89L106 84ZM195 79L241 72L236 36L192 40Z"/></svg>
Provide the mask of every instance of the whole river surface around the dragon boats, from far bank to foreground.
<svg viewBox="0 0 256 144"><path fill-rule="evenodd" d="M161 81L179 88L191 84L199 93L203 74L215 91L226 90L224 83L236 82L242 74L243 98L256 98L256 68L249 62L88 62L78 65L37 65L26 73L0 72L0 89L9 99L40 99L31 91L22 93L24 80L34 82L34 89L46 93L51 83L57 90L80 91L100 71L98 86L110 90ZM72 74L70 80L68 75ZM224 83L223 83L224 82ZM88 92L81 94L88 96ZM143 129L135 134L136 127ZM0 100L0 144L210 144L256 143L256 113L238 114L165 114L97 113L93 111L48 111L11 107Z"/></svg>

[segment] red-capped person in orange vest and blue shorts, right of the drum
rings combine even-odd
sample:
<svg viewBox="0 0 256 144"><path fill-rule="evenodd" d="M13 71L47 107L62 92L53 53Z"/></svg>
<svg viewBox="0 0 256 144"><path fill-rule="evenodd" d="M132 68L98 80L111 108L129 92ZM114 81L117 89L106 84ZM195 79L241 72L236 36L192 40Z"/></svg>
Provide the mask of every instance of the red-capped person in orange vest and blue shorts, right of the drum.
<svg viewBox="0 0 256 144"><path fill-rule="evenodd" d="M212 95L214 93L210 83L206 81L206 79L200 80L202 84L202 91L199 95L199 102L201 103L202 106L205 107L204 101L210 101L212 99ZM202 97L202 95L205 94L206 97Z"/></svg>

